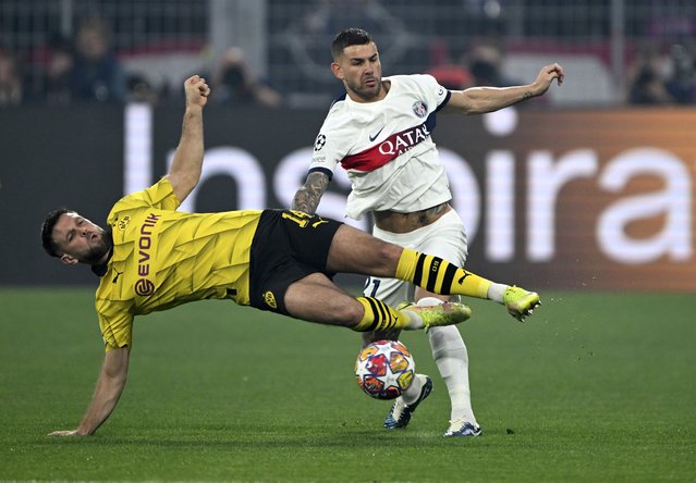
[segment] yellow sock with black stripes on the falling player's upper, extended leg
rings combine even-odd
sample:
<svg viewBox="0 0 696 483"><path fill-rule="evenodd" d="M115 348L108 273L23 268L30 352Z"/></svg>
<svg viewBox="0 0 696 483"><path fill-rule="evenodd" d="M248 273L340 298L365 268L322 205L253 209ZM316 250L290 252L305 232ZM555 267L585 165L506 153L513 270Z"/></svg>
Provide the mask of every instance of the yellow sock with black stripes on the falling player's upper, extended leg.
<svg viewBox="0 0 696 483"><path fill-rule="evenodd" d="M439 257L410 248L401 253L395 277L435 294L477 298L488 298L488 287L492 283Z"/></svg>

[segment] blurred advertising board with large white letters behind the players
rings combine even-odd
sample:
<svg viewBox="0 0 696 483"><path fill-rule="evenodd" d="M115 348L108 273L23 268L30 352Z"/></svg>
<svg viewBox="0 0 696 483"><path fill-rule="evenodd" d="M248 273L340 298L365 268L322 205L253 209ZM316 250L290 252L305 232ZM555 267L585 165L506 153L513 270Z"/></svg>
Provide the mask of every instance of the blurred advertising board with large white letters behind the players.
<svg viewBox="0 0 696 483"><path fill-rule="evenodd" d="M19 133L8 143L20 149L15 163L2 163L0 200L22 210L13 223L28 240L17 246L3 234L0 283L88 282L46 267L56 263L38 247L44 211L68 203L98 222L123 193L166 173L181 108L99 111L33 121L0 111ZM289 206L323 114L209 108L204 177L182 208ZM82 136L65 138L66 125L81 126ZM694 110L440 115L434 137L467 226L468 267L539 290L696 289L694 125ZM29 134L37 132L41 143ZM0 136L4 145L11 134ZM349 183L341 170L330 189L319 211L342 219Z"/></svg>

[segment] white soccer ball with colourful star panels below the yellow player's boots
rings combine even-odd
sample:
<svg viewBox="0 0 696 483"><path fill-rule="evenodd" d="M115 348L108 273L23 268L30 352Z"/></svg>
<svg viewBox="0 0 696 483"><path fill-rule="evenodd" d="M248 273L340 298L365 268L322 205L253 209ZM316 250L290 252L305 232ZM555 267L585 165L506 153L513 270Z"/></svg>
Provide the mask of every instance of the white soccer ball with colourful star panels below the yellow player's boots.
<svg viewBox="0 0 696 483"><path fill-rule="evenodd" d="M416 363L402 343L377 340L361 350L355 361L357 385L376 399L394 399L413 383Z"/></svg>

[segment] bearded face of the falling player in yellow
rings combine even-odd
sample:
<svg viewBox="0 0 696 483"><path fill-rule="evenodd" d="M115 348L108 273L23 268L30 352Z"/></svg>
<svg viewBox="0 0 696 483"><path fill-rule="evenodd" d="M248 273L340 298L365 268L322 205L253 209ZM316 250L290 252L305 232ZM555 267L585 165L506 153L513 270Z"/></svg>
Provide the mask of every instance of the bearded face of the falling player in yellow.
<svg viewBox="0 0 696 483"><path fill-rule="evenodd" d="M111 237L100 226L78 213L61 214L53 227L53 240L58 244L64 263L102 262L111 249Z"/></svg>

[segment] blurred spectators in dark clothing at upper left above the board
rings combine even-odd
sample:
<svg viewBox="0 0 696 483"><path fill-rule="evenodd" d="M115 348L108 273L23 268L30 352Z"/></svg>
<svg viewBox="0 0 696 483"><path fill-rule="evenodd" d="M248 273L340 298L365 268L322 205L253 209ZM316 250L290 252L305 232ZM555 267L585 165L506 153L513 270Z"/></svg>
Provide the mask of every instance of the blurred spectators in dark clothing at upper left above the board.
<svg viewBox="0 0 696 483"><path fill-rule="evenodd" d="M60 106L181 101L178 92L171 96L172 86L155 85L144 72L126 69L112 48L110 27L100 16L83 18L74 38L56 36L38 57L42 78L37 94L36 89L24 88L28 73L20 57L0 47L0 107L32 102ZM241 49L230 48L210 69L196 73L213 87L215 102L267 107L283 103L277 90L254 75ZM182 73L181 82L190 74Z"/></svg>

